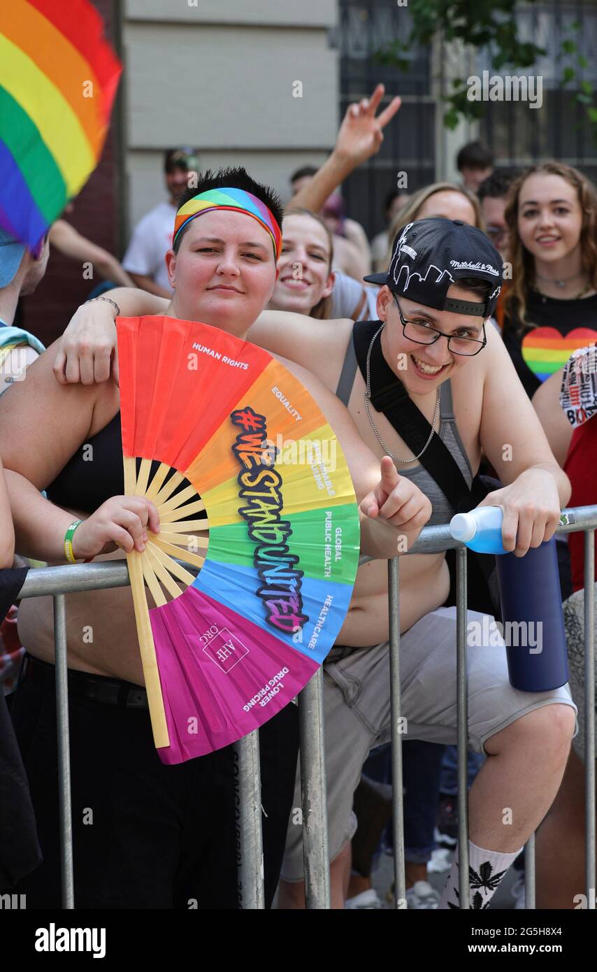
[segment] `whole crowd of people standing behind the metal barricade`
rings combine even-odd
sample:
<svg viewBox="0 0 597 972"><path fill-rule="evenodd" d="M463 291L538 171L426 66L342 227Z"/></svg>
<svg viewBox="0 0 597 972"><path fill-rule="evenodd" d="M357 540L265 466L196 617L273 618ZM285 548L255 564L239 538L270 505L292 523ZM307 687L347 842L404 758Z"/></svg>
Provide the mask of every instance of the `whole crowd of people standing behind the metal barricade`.
<svg viewBox="0 0 597 972"><path fill-rule="evenodd" d="M597 385L579 365L597 334L597 191L557 161L494 168L475 142L459 153L461 183L380 199L388 229L369 244L340 188L400 108L395 98L379 110L383 94L378 86L350 106L328 160L293 173L286 207L242 167L202 170L192 149L169 151L168 200L136 226L122 265L101 258L110 283L47 350L13 326L18 297L43 276L51 245L83 259L92 244L63 220L36 255L0 239L0 394L10 388L0 399L0 577L10 574L13 595L31 559L122 558L158 533L154 504L123 495L117 316L201 321L262 346L338 436L372 559L324 663L337 909L382 907L372 873L393 840L387 558L479 503L502 508L504 546L524 556L554 535L562 508L595 502L597 481ZM218 201L222 190L236 205ZM573 908L584 887L579 536L557 538L569 685L521 692L503 642L468 646L474 910L490 905L510 866L523 868L538 828L538 907ZM469 573L469 619L497 616L491 585ZM407 906L458 908L454 560L401 556L400 582ZM162 765L129 589L67 601L77 906L235 908L231 748ZM27 813L18 851L0 843L0 891L59 907L52 604L23 601L18 637L11 611L0 678L16 743L0 709L0 777L10 761L12 799ZM266 906L303 908L295 705L264 724L260 750ZM454 851L440 893L429 881L439 844Z"/></svg>

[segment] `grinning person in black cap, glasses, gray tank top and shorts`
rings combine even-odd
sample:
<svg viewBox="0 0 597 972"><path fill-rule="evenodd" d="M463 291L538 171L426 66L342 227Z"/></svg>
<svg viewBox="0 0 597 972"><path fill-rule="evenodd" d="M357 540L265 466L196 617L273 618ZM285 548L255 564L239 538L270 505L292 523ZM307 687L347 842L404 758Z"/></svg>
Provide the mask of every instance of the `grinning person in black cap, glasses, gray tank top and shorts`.
<svg viewBox="0 0 597 972"><path fill-rule="evenodd" d="M227 272L232 275L234 269ZM449 521L461 501L470 503L467 508L478 503L474 475L483 452L505 484L482 499L504 510L504 546L518 555L539 546L555 531L570 484L498 330L488 325L502 286L500 255L474 226L420 220L396 237L389 272L369 279L381 285L376 321L353 324L266 311L249 337L303 364L347 403L369 448L378 457L390 456L401 475L431 500L431 524ZM125 290L115 295L123 314L163 313L163 302L150 295ZM108 359L116 350L112 316L107 304L77 312L54 366L61 380L66 364L79 371L82 356L88 359L82 370L109 370ZM406 738L454 745L456 612L443 607L450 585L445 554L401 558L400 573ZM350 869L356 829L352 796L361 767L369 749L390 737L387 577L384 561L359 569L351 607L325 665L336 908L343 906ZM468 621L480 633L493 619L471 610ZM469 854L478 877L472 882L473 908L487 906L552 803L576 713L567 687L536 694L515 691L504 642L491 630L489 643L475 635L468 646L469 748L488 757L469 796ZM297 781L294 806L299 805ZM509 825L505 806L512 812ZM441 907L458 906L456 868L457 863ZM301 828L293 819L282 877L280 907L302 907Z"/></svg>

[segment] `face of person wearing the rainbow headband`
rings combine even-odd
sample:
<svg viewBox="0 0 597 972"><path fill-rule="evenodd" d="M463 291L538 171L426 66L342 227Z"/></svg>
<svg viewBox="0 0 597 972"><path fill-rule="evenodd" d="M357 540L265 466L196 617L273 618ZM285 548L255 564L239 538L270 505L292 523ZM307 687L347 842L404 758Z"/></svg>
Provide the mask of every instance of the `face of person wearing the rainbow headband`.
<svg viewBox="0 0 597 972"><path fill-rule="evenodd" d="M166 254L174 295L168 311L244 337L275 283L271 236L245 213L212 210L194 219L177 254Z"/></svg>

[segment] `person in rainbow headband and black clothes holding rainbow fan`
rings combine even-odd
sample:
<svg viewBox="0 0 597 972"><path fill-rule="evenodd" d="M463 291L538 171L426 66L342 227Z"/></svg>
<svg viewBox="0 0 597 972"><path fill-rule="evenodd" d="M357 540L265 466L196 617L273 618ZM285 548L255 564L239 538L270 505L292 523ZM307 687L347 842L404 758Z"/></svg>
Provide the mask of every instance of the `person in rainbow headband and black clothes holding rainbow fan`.
<svg viewBox="0 0 597 972"><path fill-rule="evenodd" d="M275 193L244 170L216 177L204 173L201 181L181 204L166 257L174 294L164 327L168 317L202 321L244 338L274 288L281 206ZM112 296L102 296L89 306L114 303ZM89 384L60 385L53 376L56 350L54 344L25 381L0 399L0 456L6 459L17 549L53 563L115 559L123 551L143 550L148 528L159 530L158 512L145 498L123 496L115 376L93 383L97 373ZM284 364L338 436L357 498L368 509L362 516L364 552L388 557L400 538L406 545L414 542L430 503L387 458L380 476L379 460L335 396L306 369ZM10 432L15 428L18 442ZM83 454L89 446L93 462ZM231 747L176 766L162 764L152 738L130 591L74 597L76 610L68 611L66 632L73 807L90 807L94 814L93 826L85 826L78 812L73 815L77 906L236 908ZM82 640L82 619L92 631L91 647ZM28 654L13 716L44 853L42 866L21 889L29 908L59 907L52 606L43 599L23 602L20 629ZM294 799L294 705L265 723L260 746L269 906Z"/></svg>

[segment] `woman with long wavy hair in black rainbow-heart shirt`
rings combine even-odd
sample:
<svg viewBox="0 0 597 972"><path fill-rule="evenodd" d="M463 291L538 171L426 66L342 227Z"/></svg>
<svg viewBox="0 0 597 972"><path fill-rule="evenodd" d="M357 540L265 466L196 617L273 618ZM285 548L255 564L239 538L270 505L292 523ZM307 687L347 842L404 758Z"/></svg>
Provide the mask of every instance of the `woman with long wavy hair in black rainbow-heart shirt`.
<svg viewBox="0 0 597 972"><path fill-rule="evenodd" d="M590 331L597 339L597 191L571 165L533 165L510 188L506 221L503 337L532 396Z"/></svg>

